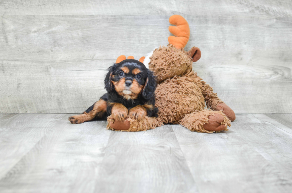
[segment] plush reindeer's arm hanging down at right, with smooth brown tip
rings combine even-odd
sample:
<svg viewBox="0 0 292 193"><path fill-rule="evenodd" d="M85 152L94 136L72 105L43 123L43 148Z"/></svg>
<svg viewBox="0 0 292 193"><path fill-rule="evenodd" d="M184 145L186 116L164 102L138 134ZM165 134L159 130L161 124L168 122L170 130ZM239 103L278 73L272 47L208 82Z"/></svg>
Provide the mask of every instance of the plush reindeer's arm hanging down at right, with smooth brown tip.
<svg viewBox="0 0 292 193"><path fill-rule="evenodd" d="M235 120L235 113L233 110L227 106L220 98L218 98L217 94L213 92L213 88L206 84L206 82L202 81L201 90L203 92L207 107L214 111L222 110L223 113L229 118L229 120Z"/></svg>

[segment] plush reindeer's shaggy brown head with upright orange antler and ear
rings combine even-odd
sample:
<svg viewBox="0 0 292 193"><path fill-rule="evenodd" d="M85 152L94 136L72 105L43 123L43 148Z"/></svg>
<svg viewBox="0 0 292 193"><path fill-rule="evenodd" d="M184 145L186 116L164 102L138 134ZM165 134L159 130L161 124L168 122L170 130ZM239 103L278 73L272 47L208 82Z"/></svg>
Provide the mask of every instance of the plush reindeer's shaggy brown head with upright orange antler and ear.
<svg viewBox="0 0 292 193"><path fill-rule="evenodd" d="M187 21L180 15L173 15L169 22L176 25L168 28L176 37L168 37L168 46L156 48L149 57L149 69L154 72L159 82L187 73L192 70L192 62L198 61L201 57L201 51L197 47L192 47L188 52L184 51L190 37Z"/></svg>

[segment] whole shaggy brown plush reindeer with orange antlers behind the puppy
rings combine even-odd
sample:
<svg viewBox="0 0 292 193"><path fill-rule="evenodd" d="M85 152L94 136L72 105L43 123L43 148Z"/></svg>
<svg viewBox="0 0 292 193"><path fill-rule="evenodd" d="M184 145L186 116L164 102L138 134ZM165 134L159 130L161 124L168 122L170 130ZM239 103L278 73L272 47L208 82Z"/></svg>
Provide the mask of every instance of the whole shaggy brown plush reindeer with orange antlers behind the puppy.
<svg viewBox="0 0 292 193"><path fill-rule="evenodd" d="M159 85L155 92L155 106L159 109L159 117L145 117L140 122L126 120L125 123L115 122L109 117L108 128L145 131L161 126L161 123L172 123L181 124L191 131L227 131L230 121L235 120L234 112L192 70L192 63L201 57L200 49L192 47L190 51L184 51L190 37L189 24L180 15L171 16L169 22L175 25L170 26L169 31L176 37L170 36L167 46L156 48L147 57L140 58L157 76Z"/></svg>

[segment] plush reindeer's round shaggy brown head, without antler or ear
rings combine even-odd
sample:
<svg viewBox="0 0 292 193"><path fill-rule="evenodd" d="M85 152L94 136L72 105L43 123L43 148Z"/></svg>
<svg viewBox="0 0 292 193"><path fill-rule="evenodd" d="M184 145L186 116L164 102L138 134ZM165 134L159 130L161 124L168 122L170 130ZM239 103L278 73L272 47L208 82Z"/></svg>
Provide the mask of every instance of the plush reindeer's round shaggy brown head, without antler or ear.
<svg viewBox="0 0 292 193"><path fill-rule="evenodd" d="M192 70L192 59L184 51L184 48L177 49L169 44L156 48L148 65L160 82L173 76L183 75L187 70Z"/></svg>

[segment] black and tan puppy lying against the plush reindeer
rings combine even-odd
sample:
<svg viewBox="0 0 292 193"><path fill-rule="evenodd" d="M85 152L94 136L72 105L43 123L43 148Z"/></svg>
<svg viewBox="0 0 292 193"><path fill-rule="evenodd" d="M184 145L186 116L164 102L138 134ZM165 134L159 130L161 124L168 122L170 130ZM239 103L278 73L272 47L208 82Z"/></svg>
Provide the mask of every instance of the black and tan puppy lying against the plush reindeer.
<svg viewBox="0 0 292 193"><path fill-rule="evenodd" d="M71 123L106 120L109 115L119 121L158 116L158 108L154 106L156 79L143 63L126 59L114 64L108 68L104 83L107 93L82 114L69 117Z"/></svg>

